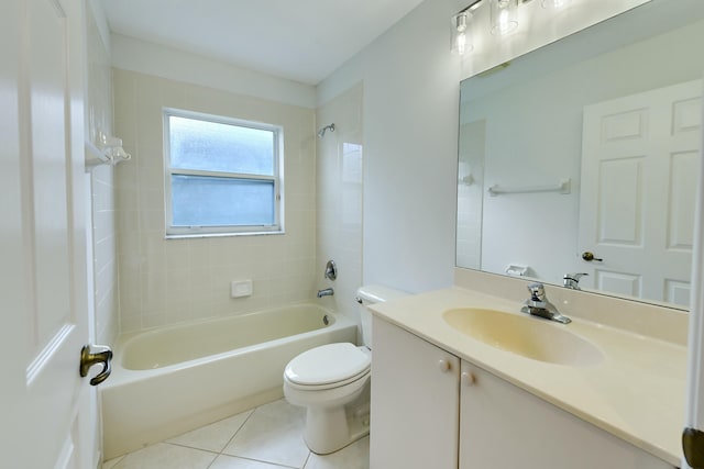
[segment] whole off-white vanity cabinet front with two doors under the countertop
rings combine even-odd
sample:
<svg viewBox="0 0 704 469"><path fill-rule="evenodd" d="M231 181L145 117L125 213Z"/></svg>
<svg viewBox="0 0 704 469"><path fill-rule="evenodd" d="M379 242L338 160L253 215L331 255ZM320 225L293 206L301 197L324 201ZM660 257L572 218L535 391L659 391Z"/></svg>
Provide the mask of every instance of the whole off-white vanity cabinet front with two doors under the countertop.
<svg viewBox="0 0 704 469"><path fill-rule="evenodd" d="M371 469L672 469L374 317Z"/></svg>

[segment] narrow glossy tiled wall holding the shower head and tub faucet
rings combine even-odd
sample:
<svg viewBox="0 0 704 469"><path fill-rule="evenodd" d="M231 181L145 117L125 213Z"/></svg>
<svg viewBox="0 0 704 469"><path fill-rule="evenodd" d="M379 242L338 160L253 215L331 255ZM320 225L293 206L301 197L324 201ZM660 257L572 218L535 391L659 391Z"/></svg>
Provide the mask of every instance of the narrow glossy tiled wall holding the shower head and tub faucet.
<svg viewBox="0 0 704 469"><path fill-rule="evenodd" d="M320 107L318 127L334 123L334 132L318 139L317 198L318 244L316 280L319 288L332 287L334 297L323 303L356 319L356 289L362 282L362 132L363 86L354 86ZM338 267L336 281L324 280L326 263Z"/></svg>

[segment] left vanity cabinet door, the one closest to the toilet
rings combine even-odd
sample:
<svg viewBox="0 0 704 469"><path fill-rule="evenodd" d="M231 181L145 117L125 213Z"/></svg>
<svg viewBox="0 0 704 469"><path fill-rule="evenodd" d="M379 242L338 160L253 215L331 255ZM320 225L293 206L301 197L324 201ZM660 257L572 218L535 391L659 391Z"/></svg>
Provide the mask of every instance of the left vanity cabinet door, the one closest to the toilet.
<svg viewBox="0 0 704 469"><path fill-rule="evenodd" d="M460 360L373 321L371 469L457 468Z"/></svg>

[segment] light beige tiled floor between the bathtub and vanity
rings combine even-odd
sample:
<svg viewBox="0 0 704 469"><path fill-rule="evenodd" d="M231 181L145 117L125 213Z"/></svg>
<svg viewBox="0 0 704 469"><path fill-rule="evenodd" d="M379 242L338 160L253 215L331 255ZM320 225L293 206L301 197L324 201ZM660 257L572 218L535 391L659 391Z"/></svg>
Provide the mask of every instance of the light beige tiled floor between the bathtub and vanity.
<svg viewBox="0 0 704 469"><path fill-rule="evenodd" d="M262 405L107 461L102 469L369 469L363 438L332 455L310 453L305 409L285 400Z"/></svg>

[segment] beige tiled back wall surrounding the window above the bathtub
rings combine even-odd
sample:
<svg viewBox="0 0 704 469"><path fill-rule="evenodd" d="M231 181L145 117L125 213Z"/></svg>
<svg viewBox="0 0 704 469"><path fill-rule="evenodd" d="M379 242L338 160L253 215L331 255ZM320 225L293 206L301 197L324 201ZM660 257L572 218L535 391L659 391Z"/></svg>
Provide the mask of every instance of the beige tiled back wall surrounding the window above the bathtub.
<svg viewBox="0 0 704 469"><path fill-rule="evenodd" d="M121 332L240 314L315 295L315 112L113 69L116 133L132 160L117 168ZM284 235L164 238L164 107L284 127ZM252 279L249 298L230 282Z"/></svg>

